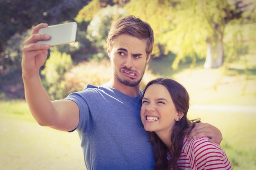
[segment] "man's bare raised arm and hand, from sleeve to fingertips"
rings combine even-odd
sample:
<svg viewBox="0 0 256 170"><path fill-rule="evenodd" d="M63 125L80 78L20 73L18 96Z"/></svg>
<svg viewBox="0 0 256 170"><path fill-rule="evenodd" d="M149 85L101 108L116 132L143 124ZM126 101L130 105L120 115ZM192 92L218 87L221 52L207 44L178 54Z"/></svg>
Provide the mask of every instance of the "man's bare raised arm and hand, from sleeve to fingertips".
<svg viewBox="0 0 256 170"><path fill-rule="evenodd" d="M70 131L79 123L79 108L71 100L51 101L40 79L40 67L47 59L47 44L38 44L38 40L48 40L49 35L38 34L38 30L48 24L38 24L32 35L25 40L22 49L22 79L25 98L31 114L41 126Z"/></svg>

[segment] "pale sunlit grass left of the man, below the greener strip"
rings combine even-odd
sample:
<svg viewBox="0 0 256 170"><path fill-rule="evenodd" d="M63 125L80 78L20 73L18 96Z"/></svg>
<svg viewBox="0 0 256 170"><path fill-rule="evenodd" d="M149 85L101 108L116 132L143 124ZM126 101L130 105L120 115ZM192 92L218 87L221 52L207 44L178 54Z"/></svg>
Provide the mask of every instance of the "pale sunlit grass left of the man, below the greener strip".
<svg viewBox="0 0 256 170"><path fill-rule="evenodd" d="M76 132L61 132L2 113L0 130L2 170L86 170Z"/></svg>

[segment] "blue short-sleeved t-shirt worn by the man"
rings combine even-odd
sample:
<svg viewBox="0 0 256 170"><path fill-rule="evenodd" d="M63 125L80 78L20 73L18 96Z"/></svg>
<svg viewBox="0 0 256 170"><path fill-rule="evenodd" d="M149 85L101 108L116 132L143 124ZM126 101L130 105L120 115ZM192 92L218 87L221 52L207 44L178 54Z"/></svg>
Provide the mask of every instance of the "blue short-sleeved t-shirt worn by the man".
<svg viewBox="0 0 256 170"><path fill-rule="evenodd" d="M140 119L141 103L107 85L87 85L71 93L79 106L77 130L88 170L153 170L148 132Z"/></svg>

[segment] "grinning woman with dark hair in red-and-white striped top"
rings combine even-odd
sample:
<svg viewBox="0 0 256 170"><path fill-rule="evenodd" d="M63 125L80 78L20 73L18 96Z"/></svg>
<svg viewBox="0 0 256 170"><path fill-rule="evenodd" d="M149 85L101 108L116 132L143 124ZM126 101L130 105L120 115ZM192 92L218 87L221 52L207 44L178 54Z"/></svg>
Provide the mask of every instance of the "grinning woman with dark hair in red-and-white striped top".
<svg viewBox="0 0 256 170"><path fill-rule="evenodd" d="M150 132L155 170L232 170L225 151L208 137L187 140L200 119L187 119L189 94L180 83L154 79L146 85L141 102L141 121Z"/></svg>

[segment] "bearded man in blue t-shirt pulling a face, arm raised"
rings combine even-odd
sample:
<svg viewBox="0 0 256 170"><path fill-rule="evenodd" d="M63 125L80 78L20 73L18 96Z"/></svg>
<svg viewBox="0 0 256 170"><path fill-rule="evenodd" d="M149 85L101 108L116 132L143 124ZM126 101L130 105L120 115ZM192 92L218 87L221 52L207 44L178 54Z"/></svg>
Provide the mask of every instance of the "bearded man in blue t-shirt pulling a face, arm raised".
<svg viewBox="0 0 256 170"><path fill-rule="evenodd" d="M25 97L38 124L68 132L77 130L88 170L153 170L153 150L141 124L139 102L139 83L153 49L150 25L134 16L112 24L107 40L112 79L56 101L49 99L39 75L50 47L37 43L50 38L38 34L43 27L47 24L34 27L24 42L22 57ZM209 124L196 126L193 136L222 140L221 132Z"/></svg>

